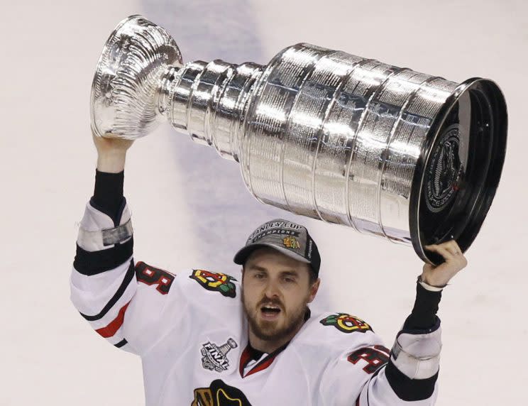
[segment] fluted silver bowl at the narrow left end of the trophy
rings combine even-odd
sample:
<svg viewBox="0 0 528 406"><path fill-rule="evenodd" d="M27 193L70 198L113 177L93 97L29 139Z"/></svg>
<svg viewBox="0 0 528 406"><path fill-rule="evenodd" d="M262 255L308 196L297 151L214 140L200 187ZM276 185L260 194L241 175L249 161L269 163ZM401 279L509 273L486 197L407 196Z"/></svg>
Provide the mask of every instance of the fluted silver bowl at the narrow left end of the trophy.
<svg viewBox="0 0 528 406"><path fill-rule="evenodd" d="M121 21L111 33L92 81L92 131L107 138L136 139L160 123L156 113L161 75L180 67L182 55L163 28L141 16Z"/></svg>

